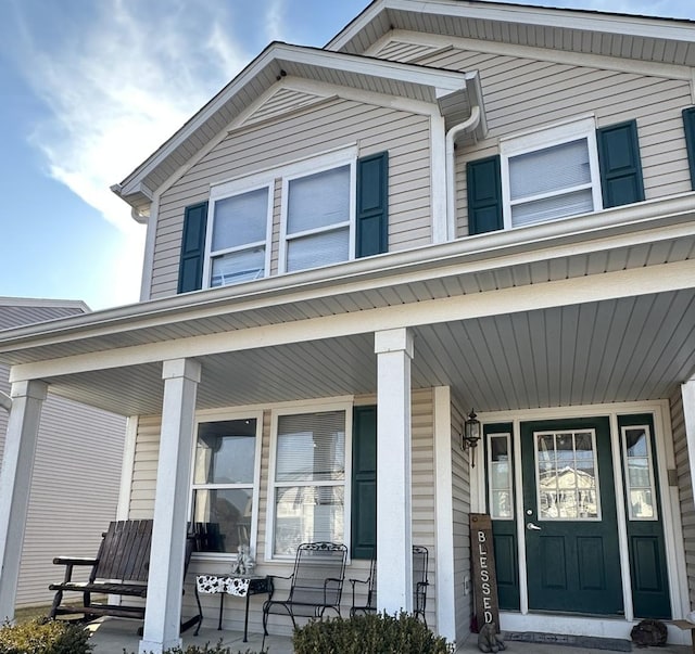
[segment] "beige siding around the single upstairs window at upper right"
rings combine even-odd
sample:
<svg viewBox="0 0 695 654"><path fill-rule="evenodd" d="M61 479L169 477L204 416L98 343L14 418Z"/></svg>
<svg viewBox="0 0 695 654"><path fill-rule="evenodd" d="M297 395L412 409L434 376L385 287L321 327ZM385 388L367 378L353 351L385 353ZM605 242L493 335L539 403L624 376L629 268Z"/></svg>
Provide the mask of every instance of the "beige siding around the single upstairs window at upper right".
<svg viewBox="0 0 695 654"><path fill-rule="evenodd" d="M459 49L418 63L480 73L489 134L457 150L457 236L468 234L466 164L497 154L500 138L574 116L593 113L597 127L636 119L647 200L691 190L681 117L692 104L686 80Z"/></svg>

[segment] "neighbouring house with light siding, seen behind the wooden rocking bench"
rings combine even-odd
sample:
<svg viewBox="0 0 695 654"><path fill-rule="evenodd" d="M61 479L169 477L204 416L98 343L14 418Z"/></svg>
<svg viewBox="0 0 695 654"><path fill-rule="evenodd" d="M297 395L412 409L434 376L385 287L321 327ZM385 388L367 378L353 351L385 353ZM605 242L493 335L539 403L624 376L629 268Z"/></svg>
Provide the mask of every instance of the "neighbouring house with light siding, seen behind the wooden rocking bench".
<svg viewBox="0 0 695 654"><path fill-rule="evenodd" d="M88 311L83 302L0 297L0 331ZM0 400L10 394L9 377L9 367L0 364ZM9 419L9 407L2 407L0 462ZM116 515L125 426L121 415L60 397L46 400L34 454L16 606L50 604L48 584L62 575L53 565L54 556L93 556L101 531Z"/></svg>

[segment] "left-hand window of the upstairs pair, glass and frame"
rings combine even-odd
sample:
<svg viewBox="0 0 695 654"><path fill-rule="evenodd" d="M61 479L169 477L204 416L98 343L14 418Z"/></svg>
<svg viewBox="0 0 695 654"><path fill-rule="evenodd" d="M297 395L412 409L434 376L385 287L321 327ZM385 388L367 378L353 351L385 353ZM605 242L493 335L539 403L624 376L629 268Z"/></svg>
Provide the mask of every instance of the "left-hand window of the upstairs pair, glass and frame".
<svg viewBox="0 0 695 654"><path fill-rule="evenodd" d="M212 201L208 273L211 286L225 286L268 273L273 221L270 185Z"/></svg>

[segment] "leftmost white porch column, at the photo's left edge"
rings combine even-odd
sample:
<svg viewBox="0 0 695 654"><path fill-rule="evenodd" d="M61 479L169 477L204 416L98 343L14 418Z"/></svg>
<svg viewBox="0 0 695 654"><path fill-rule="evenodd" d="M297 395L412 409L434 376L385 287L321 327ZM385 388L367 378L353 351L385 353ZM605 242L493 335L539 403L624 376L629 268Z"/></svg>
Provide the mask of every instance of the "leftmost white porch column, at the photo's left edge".
<svg viewBox="0 0 695 654"><path fill-rule="evenodd" d="M0 624L14 619L34 453L48 385L12 385L12 409L0 472Z"/></svg>

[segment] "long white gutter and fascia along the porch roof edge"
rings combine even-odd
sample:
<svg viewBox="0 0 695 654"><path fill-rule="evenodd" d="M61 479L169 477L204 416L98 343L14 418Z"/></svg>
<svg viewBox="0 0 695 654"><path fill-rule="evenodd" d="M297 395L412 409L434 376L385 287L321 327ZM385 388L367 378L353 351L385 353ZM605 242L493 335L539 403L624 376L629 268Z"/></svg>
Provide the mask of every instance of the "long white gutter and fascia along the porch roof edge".
<svg viewBox="0 0 695 654"><path fill-rule="evenodd" d="M313 269L249 282L243 288L208 288L103 309L52 321L50 329L41 324L25 325L0 332L0 352L166 325L176 320L195 320L216 316L220 310L271 307L285 302L283 298L304 302L346 290L356 292L396 281L416 282L430 279L433 273L443 277L452 267L458 274L601 252L607 247L674 240L694 233L693 198L695 192L684 193L565 221L356 259L332 267L330 273Z"/></svg>

